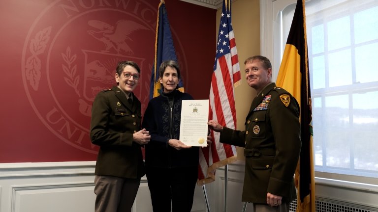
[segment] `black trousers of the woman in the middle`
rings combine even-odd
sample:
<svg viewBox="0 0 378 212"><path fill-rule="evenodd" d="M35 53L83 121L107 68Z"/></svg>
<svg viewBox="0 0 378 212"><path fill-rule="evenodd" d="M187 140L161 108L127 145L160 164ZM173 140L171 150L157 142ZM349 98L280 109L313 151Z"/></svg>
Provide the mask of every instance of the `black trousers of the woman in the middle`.
<svg viewBox="0 0 378 212"><path fill-rule="evenodd" d="M190 212L198 166L179 168L146 167L154 212Z"/></svg>

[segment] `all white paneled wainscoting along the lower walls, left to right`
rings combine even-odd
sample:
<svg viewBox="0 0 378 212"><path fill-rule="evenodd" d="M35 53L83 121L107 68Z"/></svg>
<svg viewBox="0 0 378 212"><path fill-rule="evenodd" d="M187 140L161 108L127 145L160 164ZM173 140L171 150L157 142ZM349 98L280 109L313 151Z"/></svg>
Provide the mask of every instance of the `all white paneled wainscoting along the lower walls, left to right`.
<svg viewBox="0 0 378 212"><path fill-rule="evenodd" d="M224 211L227 177L227 212L241 212L244 162L217 169L216 181L205 185L211 212ZM93 212L95 161L0 163L0 212ZM378 185L353 185L315 179L316 199L377 212ZM319 200L320 199L320 200ZM206 212L203 187L197 186L192 212ZM142 178L132 212L152 212L146 177ZM252 212L247 205L246 212Z"/></svg>

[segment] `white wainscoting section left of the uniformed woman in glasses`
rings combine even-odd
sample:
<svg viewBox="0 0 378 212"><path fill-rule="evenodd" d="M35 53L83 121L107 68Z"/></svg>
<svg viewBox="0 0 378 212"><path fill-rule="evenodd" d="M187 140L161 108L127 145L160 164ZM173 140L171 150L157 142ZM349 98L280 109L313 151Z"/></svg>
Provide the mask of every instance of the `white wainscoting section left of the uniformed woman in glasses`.
<svg viewBox="0 0 378 212"><path fill-rule="evenodd" d="M0 212L93 212L95 162L0 164Z"/></svg>

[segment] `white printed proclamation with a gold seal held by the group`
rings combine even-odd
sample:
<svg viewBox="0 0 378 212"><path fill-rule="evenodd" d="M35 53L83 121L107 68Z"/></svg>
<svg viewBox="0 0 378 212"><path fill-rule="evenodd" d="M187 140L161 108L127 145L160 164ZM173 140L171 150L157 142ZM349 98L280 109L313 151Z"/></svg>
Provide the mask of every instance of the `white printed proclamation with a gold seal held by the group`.
<svg viewBox="0 0 378 212"><path fill-rule="evenodd" d="M209 100L183 100L180 141L188 146L207 146Z"/></svg>

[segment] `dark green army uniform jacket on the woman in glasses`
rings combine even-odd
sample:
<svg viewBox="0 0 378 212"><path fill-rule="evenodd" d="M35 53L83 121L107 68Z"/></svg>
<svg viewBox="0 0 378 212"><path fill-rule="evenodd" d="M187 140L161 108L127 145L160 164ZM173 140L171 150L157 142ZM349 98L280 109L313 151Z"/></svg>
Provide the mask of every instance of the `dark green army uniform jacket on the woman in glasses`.
<svg viewBox="0 0 378 212"><path fill-rule="evenodd" d="M145 174L141 146L132 134L140 130L140 102L132 104L118 87L101 91L92 106L91 141L100 146L95 175L141 178Z"/></svg>

